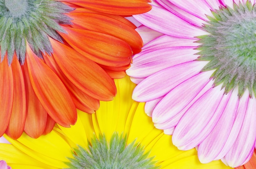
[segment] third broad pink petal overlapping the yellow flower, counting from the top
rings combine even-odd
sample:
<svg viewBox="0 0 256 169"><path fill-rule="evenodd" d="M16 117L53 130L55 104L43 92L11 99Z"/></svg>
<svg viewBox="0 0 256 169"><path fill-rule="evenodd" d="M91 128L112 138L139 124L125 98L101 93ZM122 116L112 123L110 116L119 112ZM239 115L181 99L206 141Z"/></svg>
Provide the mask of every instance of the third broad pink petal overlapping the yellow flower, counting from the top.
<svg viewBox="0 0 256 169"><path fill-rule="evenodd" d="M221 90L219 85L209 89L195 101L175 127L172 137L173 145L181 150L189 150L197 146L189 143L202 132L204 127L207 127L220 104L223 94L224 90ZM203 140L206 136L201 136L201 139Z"/></svg>

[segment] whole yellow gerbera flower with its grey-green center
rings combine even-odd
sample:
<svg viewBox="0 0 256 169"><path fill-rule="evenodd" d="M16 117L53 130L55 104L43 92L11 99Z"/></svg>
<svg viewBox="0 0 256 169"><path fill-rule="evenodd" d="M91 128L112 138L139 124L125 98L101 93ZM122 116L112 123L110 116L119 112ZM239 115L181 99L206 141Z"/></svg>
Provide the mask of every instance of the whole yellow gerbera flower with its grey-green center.
<svg viewBox="0 0 256 169"><path fill-rule="evenodd" d="M12 169L228 169L220 160L201 164L196 150L177 150L171 136L156 129L144 103L131 99L135 84L115 80L117 96L101 102L96 114L78 112L71 128L56 125L37 139L22 134L0 144L0 159Z"/></svg>

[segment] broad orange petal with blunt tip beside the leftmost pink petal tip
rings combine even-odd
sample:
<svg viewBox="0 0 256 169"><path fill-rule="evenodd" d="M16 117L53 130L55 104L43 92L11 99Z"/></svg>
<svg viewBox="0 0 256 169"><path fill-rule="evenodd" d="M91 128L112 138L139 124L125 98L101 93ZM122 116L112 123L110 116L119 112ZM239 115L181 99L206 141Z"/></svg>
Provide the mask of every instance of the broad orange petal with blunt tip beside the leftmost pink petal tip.
<svg viewBox="0 0 256 169"><path fill-rule="evenodd" d="M64 27L68 34L60 35L79 53L106 66L125 66L130 64L132 50L130 45L116 37L94 31Z"/></svg>

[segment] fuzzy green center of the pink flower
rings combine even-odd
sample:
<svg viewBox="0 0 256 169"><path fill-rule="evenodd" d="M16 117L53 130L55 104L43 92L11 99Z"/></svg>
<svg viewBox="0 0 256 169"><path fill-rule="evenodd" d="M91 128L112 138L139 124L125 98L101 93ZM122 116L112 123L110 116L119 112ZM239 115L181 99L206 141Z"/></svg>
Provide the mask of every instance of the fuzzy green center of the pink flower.
<svg viewBox="0 0 256 169"><path fill-rule="evenodd" d="M210 33L198 38L199 61L209 61L202 71L216 70L211 77L215 86L222 84L225 92L238 86L242 97L249 89L256 95L256 9L251 2L234 4L213 11L209 24L202 28Z"/></svg>

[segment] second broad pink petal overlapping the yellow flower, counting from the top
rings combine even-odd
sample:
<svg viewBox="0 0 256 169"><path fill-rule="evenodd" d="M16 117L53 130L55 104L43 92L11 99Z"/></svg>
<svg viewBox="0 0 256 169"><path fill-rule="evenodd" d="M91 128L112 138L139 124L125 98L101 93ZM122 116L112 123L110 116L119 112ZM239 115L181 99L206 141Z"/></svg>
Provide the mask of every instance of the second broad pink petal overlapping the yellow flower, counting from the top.
<svg viewBox="0 0 256 169"><path fill-rule="evenodd" d="M202 72L180 83L159 101L152 113L154 123L165 123L172 119L200 93L210 81L212 71ZM198 83L200 81L200 83ZM209 88L208 88L209 89ZM175 124L176 125L176 124ZM173 127L175 125L171 125Z"/></svg>

